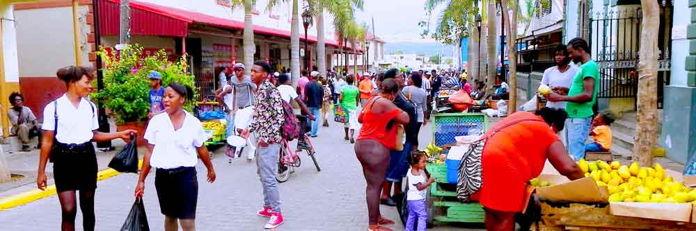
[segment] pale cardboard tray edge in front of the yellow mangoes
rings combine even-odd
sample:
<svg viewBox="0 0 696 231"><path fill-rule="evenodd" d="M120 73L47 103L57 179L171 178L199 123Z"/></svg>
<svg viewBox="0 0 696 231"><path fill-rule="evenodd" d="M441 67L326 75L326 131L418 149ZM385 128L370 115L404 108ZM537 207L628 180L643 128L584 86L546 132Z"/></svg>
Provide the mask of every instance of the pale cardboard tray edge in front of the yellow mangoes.
<svg viewBox="0 0 696 231"><path fill-rule="evenodd" d="M615 216L632 216L645 219L690 222L691 203L612 202L609 209Z"/></svg>

